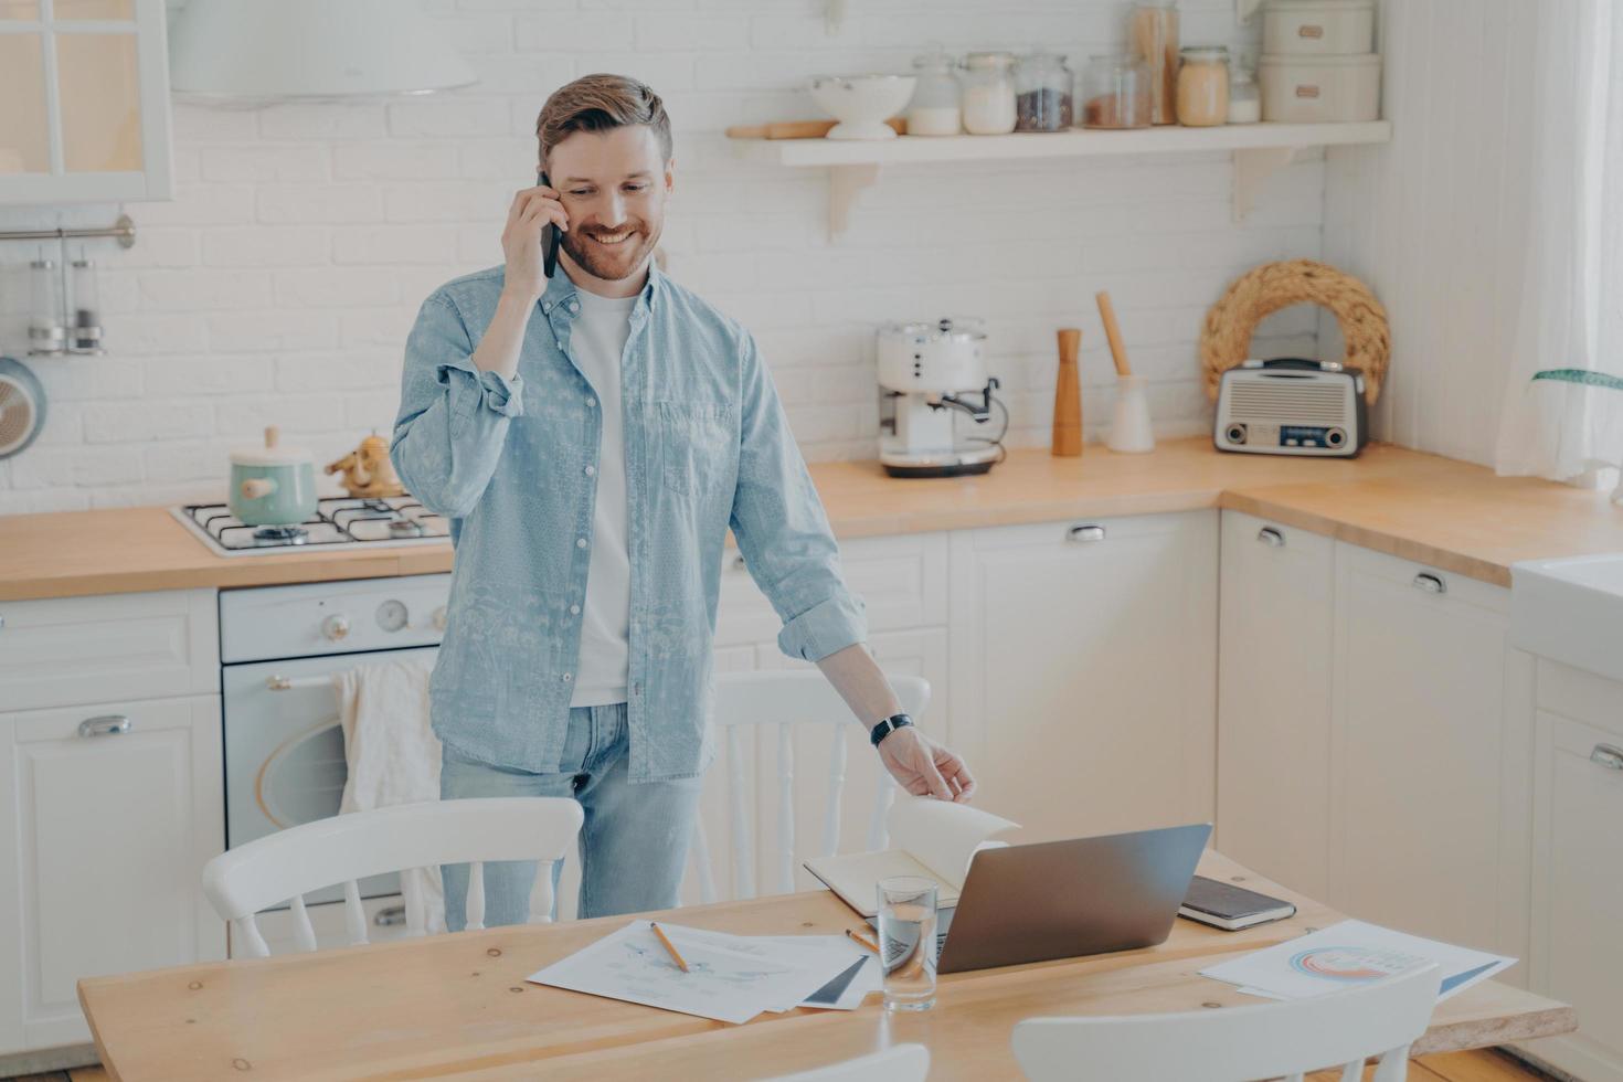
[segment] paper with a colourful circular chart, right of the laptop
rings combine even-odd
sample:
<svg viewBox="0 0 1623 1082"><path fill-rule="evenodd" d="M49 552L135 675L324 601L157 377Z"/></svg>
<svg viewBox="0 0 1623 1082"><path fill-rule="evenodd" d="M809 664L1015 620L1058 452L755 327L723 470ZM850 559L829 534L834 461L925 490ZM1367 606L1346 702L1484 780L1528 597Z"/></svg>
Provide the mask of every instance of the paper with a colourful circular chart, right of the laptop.
<svg viewBox="0 0 1623 1082"><path fill-rule="evenodd" d="M1516 959L1422 939L1401 931L1344 920L1321 931L1274 944L1201 970L1203 977L1238 985L1269 999L1307 999L1436 962L1443 970L1438 1001L1509 968Z"/></svg>

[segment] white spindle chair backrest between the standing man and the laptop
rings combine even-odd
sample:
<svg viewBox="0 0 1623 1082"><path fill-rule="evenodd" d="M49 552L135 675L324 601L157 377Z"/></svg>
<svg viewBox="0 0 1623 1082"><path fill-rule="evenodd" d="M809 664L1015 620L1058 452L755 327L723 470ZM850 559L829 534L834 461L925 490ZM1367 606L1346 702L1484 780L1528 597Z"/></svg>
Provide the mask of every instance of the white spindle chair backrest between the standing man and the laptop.
<svg viewBox="0 0 1623 1082"><path fill-rule="evenodd" d="M930 704L930 681L922 676L888 676L902 712L922 719ZM716 678L716 706L712 712L717 738L725 758L724 784L727 787L727 832L732 848L735 897L755 897L755 816L750 814L747 795L753 767L740 741L740 730L756 727L774 730L777 746L777 855L768 889L789 892L795 889L795 751L794 730L799 725L828 728L828 782L824 787L823 839L813 857L826 857L839 850L841 798L846 790L847 740L855 738L867 749L867 730L818 670L781 670L760 673L724 673ZM748 771L748 774L747 774ZM766 779L760 779L763 784ZM885 848L885 813L896 795L896 784L881 771L875 790L873 809L868 818L865 848ZM700 900L719 900L716 874L711 865L709 839L703 818L693 831L693 866L700 878Z"/></svg>

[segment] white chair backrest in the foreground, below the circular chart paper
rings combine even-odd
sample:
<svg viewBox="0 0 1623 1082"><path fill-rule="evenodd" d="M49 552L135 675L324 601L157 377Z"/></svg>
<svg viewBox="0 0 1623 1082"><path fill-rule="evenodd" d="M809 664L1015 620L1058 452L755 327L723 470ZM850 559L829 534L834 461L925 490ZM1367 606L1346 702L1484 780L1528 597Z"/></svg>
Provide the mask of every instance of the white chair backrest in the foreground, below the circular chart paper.
<svg viewBox="0 0 1623 1082"><path fill-rule="evenodd" d="M1313 999L1185 1014L1027 1019L1014 1027L1014 1058L1032 1082L1087 1076L1112 1082L1302 1082L1308 1071L1342 1067L1363 1077L1380 1056L1375 1082L1402 1082L1409 1046L1436 1006L1436 965Z"/></svg>

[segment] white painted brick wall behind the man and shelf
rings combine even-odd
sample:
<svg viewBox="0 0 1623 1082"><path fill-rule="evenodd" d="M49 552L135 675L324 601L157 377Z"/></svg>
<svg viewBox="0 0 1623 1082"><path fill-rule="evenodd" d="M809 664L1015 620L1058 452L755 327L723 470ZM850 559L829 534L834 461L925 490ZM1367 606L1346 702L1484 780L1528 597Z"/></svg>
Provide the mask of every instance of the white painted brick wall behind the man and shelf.
<svg viewBox="0 0 1623 1082"><path fill-rule="evenodd" d="M545 96L591 71L648 79L670 109L670 271L748 324L810 459L875 453L873 324L977 315L1011 443L1042 444L1055 328L1079 324L1089 438L1113 381L1094 290L1109 289L1162 435L1209 412L1195 342L1206 307L1255 263L1318 256L1323 159L1229 216L1224 154L896 167L852 230L826 232L828 177L734 161L729 123L816 117L820 71L907 70L1044 42L1073 67L1125 41L1115 0L430 0L482 83L427 101L175 109L177 198L131 204L140 242L89 247L110 354L31 362L42 438L0 462L0 513L221 498L226 453L266 423L320 462L393 422L401 344L441 281L500 260L534 169ZM1183 0L1185 41L1255 50L1232 0ZM0 227L104 224L118 208L0 209ZM0 352L26 349L26 245L0 247ZM55 256L54 256L55 258ZM1259 350L1315 347L1287 311ZM326 480L326 479L323 479Z"/></svg>

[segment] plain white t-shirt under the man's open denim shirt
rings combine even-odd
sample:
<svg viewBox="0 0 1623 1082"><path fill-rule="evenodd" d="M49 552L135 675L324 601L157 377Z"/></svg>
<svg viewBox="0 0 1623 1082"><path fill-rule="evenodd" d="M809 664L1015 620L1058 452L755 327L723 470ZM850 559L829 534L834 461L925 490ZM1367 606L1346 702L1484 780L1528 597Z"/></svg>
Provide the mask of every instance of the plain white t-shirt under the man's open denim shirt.
<svg viewBox="0 0 1623 1082"><path fill-rule="evenodd" d="M625 428L620 409L620 357L631 334L636 297L599 297L576 290L581 315L570 331L570 352L602 415L597 503L592 508L592 556L586 569L581 657L570 706L625 702L631 631L631 556L625 526Z"/></svg>

